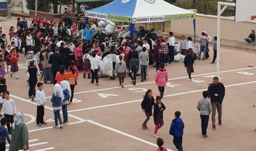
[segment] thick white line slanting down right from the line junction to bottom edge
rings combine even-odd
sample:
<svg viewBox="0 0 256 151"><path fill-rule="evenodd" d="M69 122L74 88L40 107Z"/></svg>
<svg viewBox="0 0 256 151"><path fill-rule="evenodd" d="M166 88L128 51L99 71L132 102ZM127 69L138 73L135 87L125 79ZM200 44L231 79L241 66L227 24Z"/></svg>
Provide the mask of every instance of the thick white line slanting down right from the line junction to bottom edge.
<svg viewBox="0 0 256 151"><path fill-rule="evenodd" d="M92 120L87 120L87 121L88 121L88 122L90 122L90 123L92 123L92 124L94 124L94 125L97 125L97 126L100 126L100 127L105 128L105 129L108 129L108 130L111 130L111 131L117 132L117 133L119 133L119 134L122 134L122 135L125 135L125 136L127 136L127 137L130 137L130 138L136 139L136 140L141 141L141 142L143 142L143 143L149 144L149 145L151 145L151 146L158 147L156 144L151 143L151 142L149 142L149 141L146 141L146 140L144 140L144 139L141 139L141 138L139 138L139 137L132 136L132 135L130 135L130 134L127 134L127 133L125 133L125 132L122 132L122 131L119 131L119 130L113 129L113 128L108 127L108 126L105 126L105 125L102 125L102 124L97 123L97 122L94 122L94 121L92 121ZM152 137L153 137L153 136L152 136ZM167 148L167 150L168 150L168 151L173 151L173 150L168 149L168 148Z"/></svg>

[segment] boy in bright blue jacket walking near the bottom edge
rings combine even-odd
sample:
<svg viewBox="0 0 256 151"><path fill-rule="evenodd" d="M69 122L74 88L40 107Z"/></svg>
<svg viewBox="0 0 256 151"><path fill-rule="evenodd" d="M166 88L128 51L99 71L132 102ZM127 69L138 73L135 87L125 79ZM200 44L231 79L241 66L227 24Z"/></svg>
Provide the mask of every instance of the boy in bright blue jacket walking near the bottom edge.
<svg viewBox="0 0 256 151"><path fill-rule="evenodd" d="M209 101L208 101L209 102ZM176 111L174 113L175 119L173 119L169 134L173 136L173 143L179 151L183 151L182 147L182 136L183 136L183 129L184 123L180 118L180 111Z"/></svg>

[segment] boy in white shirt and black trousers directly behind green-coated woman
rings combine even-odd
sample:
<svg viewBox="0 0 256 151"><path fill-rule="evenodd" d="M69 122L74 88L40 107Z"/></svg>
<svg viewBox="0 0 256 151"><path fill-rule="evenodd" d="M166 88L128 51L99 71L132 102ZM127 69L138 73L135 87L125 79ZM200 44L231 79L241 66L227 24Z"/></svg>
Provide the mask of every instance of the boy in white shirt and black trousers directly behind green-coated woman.
<svg viewBox="0 0 256 151"><path fill-rule="evenodd" d="M10 123L12 124L14 122L14 116L16 116L16 112L17 112L16 105L14 100L10 98L9 91L5 91L1 93L0 96L1 96L0 103L3 103L4 105L3 115L5 118L7 118L7 129L10 134L10 130L11 130Z"/></svg>

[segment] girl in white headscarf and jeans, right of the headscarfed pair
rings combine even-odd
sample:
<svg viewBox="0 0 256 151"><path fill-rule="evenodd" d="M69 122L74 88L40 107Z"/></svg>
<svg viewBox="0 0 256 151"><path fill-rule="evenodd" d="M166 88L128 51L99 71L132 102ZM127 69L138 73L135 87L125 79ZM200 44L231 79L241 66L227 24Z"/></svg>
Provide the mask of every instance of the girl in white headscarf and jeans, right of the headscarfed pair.
<svg viewBox="0 0 256 151"><path fill-rule="evenodd" d="M71 89L68 81L61 81L60 84L64 95L64 100L62 100L63 125L68 125L69 123L67 106L69 104Z"/></svg>

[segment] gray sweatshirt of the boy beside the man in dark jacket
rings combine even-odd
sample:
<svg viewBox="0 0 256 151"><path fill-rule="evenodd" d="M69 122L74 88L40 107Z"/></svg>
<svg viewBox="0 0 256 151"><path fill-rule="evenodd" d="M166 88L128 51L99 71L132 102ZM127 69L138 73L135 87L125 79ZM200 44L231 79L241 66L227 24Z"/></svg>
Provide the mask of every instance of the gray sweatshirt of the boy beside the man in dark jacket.
<svg viewBox="0 0 256 151"><path fill-rule="evenodd" d="M207 98L202 98L197 104L197 109L200 111L200 115L210 115L211 102Z"/></svg>

